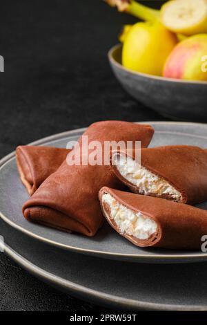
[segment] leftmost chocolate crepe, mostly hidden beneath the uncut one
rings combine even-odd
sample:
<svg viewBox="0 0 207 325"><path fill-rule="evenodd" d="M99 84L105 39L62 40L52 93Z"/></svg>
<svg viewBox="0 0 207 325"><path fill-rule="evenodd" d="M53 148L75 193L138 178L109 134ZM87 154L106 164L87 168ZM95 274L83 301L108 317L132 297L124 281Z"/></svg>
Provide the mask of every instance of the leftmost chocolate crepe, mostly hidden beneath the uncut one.
<svg viewBox="0 0 207 325"><path fill-rule="evenodd" d="M30 195L58 169L69 152L68 149L54 147L17 147L17 168L21 181Z"/></svg>

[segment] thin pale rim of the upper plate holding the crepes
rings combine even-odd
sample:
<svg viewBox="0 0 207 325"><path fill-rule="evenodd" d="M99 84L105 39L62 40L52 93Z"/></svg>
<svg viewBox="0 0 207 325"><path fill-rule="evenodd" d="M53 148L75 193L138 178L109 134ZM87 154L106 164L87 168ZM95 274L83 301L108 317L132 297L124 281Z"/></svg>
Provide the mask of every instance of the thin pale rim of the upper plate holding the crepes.
<svg viewBox="0 0 207 325"><path fill-rule="evenodd" d="M196 122L170 122L170 121L144 121L144 122L135 122L136 124L179 124L179 125L192 125L192 126L197 126L197 127L204 127L206 128L207 131L207 124L204 123L196 123ZM47 136L45 138L41 138L39 140L30 142L28 145L48 145L50 142L54 142L54 140L59 140L59 139L64 139L68 138L68 136L75 135L77 133L85 131L86 128L79 128L79 129L74 129L70 131L64 131L61 133L56 133L52 136ZM176 132L175 132L176 133ZM200 138L199 135L195 135ZM206 138L207 136L201 136L201 138ZM12 151L10 154L7 156L1 158L0 160L0 173L1 169L3 167L10 163L10 160L13 160L15 158L15 151ZM1 209L1 207L0 207ZM202 255L199 254L180 254L180 255L175 255L175 254L123 254L123 253L116 253L116 252L104 252L100 250L90 250L86 248L77 248L74 246L66 245L63 243L58 243L57 241L52 241L51 239L46 239L43 236L40 236L38 234L34 234L30 230L26 230L25 228L21 227L20 225L17 225L17 223L14 223L11 221L8 216L4 215L1 210L0 210L0 218L8 223L11 227L19 230L20 232L23 232L24 234L27 234L28 236L31 236L32 238L36 239L37 241L41 241L44 243L48 243L49 245L53 245L55 247L64 249L64 250L69 250L72 252L77 252L80 254L88 254L90 256L95 256L95 257L101 257L101 258L106 258L106 259L119 259L124 260L124 259L129 259L130 261L137 261L137 262L143 262L145 261L146 263L195 263L198 261L204 261L207 258L207 252L202 253ZM157 261L156 261L157 259Z"/></svg>

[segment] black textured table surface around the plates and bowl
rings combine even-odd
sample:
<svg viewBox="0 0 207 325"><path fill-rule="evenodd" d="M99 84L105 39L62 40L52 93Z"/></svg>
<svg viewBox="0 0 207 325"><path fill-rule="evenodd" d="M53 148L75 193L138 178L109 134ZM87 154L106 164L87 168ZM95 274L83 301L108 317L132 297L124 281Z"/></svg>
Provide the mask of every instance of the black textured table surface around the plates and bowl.
<svg viewBox="0 0 207 325"><path fill-rule="evenodd" d="M127 95L110 71L107 51L133 17L101 0L7 0L0 11L1 157L97 120L164 120ZM0 310L106 310L50 288L3 253L0 280Z"/></svg>

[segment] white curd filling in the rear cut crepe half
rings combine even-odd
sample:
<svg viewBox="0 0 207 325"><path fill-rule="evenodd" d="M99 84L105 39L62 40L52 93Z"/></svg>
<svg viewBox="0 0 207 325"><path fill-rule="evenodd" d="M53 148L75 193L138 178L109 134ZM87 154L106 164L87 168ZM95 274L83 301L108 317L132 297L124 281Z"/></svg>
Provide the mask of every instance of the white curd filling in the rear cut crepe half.
<svg viewBox="0 0 207 325"><path fill-rule="evenodd" d="M175 201L181 201L181 194L172 187L164 178L161 178L151 171L139 165L129 156L114 156L114 163L121 176L130 183L139 187L140 194L155 194L161 196L168 194Z"/></svg>

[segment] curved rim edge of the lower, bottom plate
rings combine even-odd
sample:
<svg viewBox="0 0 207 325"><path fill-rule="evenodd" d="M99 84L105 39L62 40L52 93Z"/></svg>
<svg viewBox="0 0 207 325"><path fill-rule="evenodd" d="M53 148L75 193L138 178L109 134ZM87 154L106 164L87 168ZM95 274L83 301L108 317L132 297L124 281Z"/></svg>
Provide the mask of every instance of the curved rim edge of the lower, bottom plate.
<svg viewBox="0 0 207 325"><path fill-rule="evenodd" d="M110 308L119 306L119 308L128 308L133 310L160 310L160 311L206 311L207 305L181 305L181 304L158 304L154 302L141 301L135 299L124 298L116 295L103 293L102 291L90 289L88 286L76 284L73 281L54 275L52 272L46 271L39 266L23 257L19 252L16 252L10 245L4 244L4 253L18 263L23 269L27 270L30 274L34 275L41 281L47 284L53 284L62 291L68 290L68 293L75 294L79 299L86 299L94 304L108 306ZM90 297L90 299L88 299Z"/></svg>

